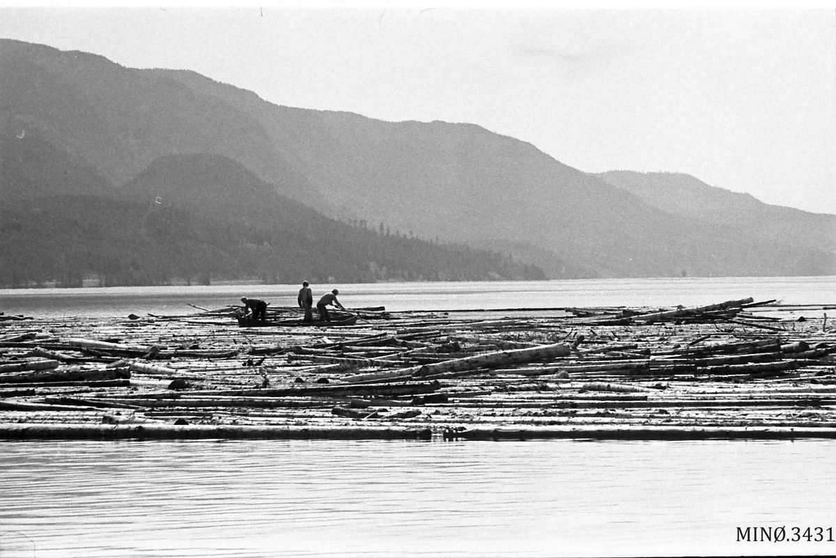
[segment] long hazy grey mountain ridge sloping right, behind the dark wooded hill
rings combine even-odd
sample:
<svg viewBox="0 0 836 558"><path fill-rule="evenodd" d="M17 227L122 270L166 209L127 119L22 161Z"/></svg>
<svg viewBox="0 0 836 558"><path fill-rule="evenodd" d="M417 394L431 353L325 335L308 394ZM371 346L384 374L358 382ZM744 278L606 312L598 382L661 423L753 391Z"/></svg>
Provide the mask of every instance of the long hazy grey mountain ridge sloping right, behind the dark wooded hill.
<svg viewBox="0 0 836 558"><path fill-rule="evenodd" d="M685 219L533 145L472 124L292 109L200 74L155 70L257 119L338 211L512 251L553 277L817 275L833 242L778 245ZM324 204L324 210L332 205ZM828 227L805 214L811 228Z"/></svg>

